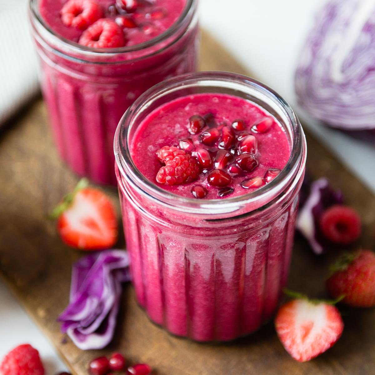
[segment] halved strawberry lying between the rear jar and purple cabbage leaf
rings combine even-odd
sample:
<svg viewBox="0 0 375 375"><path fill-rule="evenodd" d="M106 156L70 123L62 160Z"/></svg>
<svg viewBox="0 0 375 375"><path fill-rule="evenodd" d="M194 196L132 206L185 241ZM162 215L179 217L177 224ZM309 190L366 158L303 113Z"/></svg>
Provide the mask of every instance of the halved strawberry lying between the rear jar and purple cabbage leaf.
<svg viewBox="0 0 375 375"><path fill-rule="evenodd" d="M111 248L117 241L117 218L113 204L101 190L81 180L51 214L63 242L82 250Z"/></svg>

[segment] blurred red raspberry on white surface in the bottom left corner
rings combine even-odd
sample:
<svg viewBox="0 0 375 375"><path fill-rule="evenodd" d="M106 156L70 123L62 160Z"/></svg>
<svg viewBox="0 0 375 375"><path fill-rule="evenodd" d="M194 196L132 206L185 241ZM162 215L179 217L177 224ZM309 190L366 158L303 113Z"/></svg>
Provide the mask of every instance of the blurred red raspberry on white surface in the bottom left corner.
<svg viewBox="0 0 375 375"><path fill-rule="evenodd" d="M20 345L10 351L0 365L2 375L44 375L39 353L31 345Z"/></svg>

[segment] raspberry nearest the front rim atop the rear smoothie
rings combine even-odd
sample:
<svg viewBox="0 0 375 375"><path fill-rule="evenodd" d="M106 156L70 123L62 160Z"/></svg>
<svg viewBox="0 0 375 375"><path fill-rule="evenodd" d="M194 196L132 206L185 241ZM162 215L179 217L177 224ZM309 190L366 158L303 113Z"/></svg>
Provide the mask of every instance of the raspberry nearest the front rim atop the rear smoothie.
<svg viewBox="0 0 375 375"><path fill-rule="evenodd" d="M124 46L125 39L115 21L101 18L83 32L78 43L92 48L116 48Z"/></svg>

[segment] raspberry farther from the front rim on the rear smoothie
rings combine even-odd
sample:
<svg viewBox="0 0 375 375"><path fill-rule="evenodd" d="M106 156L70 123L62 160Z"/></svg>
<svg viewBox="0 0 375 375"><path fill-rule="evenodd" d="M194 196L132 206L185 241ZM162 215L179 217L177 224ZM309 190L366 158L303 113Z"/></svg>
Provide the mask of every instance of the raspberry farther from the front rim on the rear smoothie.
<svg viewBox="0 0 375 375"><path fill-rule="evenodd" d="M66 26L85 30L103 17L103 10L95 0L69 0L62 7L60 14Z"/></svg>

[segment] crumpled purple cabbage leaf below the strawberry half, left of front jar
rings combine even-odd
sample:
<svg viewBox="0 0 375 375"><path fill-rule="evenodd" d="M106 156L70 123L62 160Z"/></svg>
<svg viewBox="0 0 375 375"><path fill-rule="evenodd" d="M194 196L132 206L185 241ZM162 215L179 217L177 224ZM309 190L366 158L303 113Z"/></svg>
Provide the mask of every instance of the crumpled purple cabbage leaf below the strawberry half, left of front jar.
<svg viewBox="0 0 375 375"><path fill-rule="evenodd" d="M73 265L70 302L58 321L82 350L103 349L112 340L121 284L130 281L129 256L108 250Z"/></svg>

